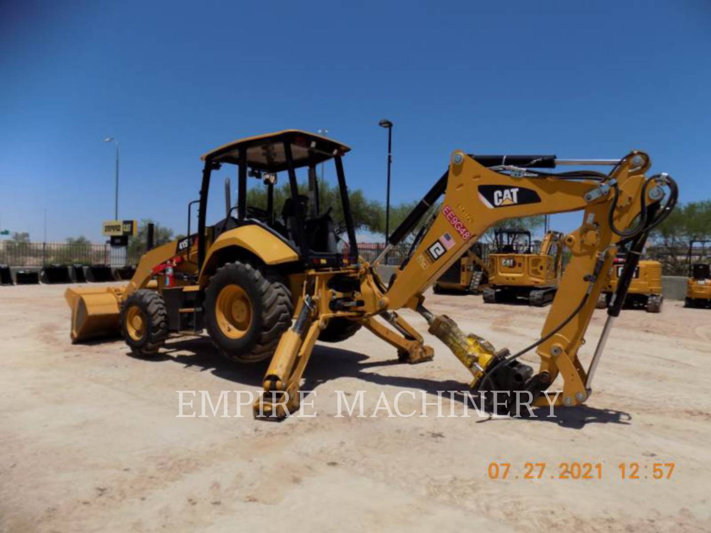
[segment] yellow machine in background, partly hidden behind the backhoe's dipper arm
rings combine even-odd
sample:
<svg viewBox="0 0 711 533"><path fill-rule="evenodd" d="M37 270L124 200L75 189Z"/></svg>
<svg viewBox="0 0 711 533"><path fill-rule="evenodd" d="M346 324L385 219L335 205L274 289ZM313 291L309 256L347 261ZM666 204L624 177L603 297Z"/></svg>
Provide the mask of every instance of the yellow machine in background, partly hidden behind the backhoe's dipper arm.
<svg viewBox="0 0 711 533"><path fill-rule="evenodd" d="M624 255L616 258L609 274L609 283L602 290L597 301L597 308L609 306L617 289L617 282L624 270ZM647 313L660 313L664 295L662 294L662 264L651 259L641 259L634 269L632 281L629 284L625 305L633 308L644 308Z"/></svg>

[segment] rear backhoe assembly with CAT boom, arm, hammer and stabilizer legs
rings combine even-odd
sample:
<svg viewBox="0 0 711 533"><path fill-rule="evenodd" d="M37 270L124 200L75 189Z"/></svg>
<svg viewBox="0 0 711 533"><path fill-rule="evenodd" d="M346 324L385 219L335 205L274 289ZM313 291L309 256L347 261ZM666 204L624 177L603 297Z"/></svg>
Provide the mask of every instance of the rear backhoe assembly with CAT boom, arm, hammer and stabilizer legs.
<svg viewBox="0 0 711 533"><path fill-rule="evenodd" d="M472 388L481 392L529 392L534 405L543 405L547 398L541 394L561 375L563 387L555 395L555 404L572 406L584 402L592 391L592 376L604 341L612 321L619 315L648 233L669 214L678 196L675 182L666 174L645 176L651 162L643 152L633 151L619 160L587 163L611 165L613 169L609 174L550 173L533 168L555 168L555 156L469 156L454 151L448 171L392 234L390 247L400 242L444 195L432 220L415 237L411 253L395 271L387 289L368 264L360 266L357 274L360 289L353 291L333 290L337 286L333 279L354 276L352 269L330 274L307 273L307 279L313 275L314 281L304 284L304 295L297 306L298 327L284 335L264 377L264 389L272 394L272 402L266 405L267 413L284 416L289 408L296 407L294 394L318 332L339 312L344 316L347 313L351 320L362 321L373 333L395 345L401 360L422 362L431 358L431 348L423 348L422 337L397 316L400 308L410 308L426 318L429 333L442 340L471 372ZM665 188L670 194L662 206L661 200L667 195ZM511 355L506 349L496 350L479 335L466 335L451 318L434 316L424 307L424 291L496 222L577 210L582 211L582 224L563 239L572 259L536 343ZM559 238L551 235L544 244L550 245ZM604 333L585 370L578 350L606 283L604 273L624 243L629 243L629 257L608 308ZM331 280L324 276L331 276ZM339 284L344 285L343 281ZM335 302L338 304L334 306ZM375 321L376 317L392 325L400 336L392 330L386 331L384 325ZM533 349L540 357L538 372L518 362L518 357ZM259 412L264 414L264 400L257 402Z"/></svg>

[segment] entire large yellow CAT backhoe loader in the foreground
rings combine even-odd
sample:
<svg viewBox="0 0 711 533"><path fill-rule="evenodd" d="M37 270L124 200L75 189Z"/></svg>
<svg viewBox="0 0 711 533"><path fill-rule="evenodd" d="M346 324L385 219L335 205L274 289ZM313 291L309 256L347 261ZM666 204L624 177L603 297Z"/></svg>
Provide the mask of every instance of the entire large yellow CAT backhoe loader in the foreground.
<svg viewBox="0 0 711 533"><path fill-rule="evenodd" d="M641 151L618 159L581 161L455 150L447 170L392 233L378 258L407 237L444 195L441 208L422 225L411 253L386 285L373 266L378 259L373 264L356 259L343 172L347 151L333 139L289 130L242 139L205 154L196 234L188 232L186 239L145 254L128 286L91 292L70 289L73 339L121 329L134 352L154 355L169 332L194 335L205 328L220 351L236 360L272 356L255 415L281 418L299 408L299 383L314 344L333 324L332 338L363 326L395 347L403 362L432 359L432 348L397 313L407 308L423 316L429 332L471 372L470 386L479 394L523 391L531 394L534 406L546 406L549 398L542 394L560 375L562 391L552 404L585 402L638 253L648 233L676 203L675 181L666 174L646 176L651 161ZM315 181L316 165L328 160L336 166L349 257L334 247L337 232L328 212L307 211L308 198L299 193L296 169L308 168L309 180ZM568 164L606 165L611 171L549 170ZM206 223L210 177L224 165L238 168L236 216L230 212L210 226ZM272 198L280 172L287 173L292 193L282 221L275 217L271 202L272 208L266 210L250 210L246 203L247 176L266 183ZM513 354L497 350L424 306L424 291L488 227L512 217L576 210L583 212L582 224L565 237L572 259L535 343ZM616 298L586 370L578 350L606 282L604 273L624 243L629 243L629 253ZM538 372L518 361L534 349L540 357ZM514 398L518 394L509 394L510 402Z"/></svg>

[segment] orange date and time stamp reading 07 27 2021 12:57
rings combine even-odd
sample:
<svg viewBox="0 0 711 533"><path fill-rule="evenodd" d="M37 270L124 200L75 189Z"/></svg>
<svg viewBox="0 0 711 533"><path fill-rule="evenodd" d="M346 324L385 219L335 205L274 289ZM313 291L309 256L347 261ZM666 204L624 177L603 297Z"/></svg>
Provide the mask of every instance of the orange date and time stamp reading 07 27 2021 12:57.
<svg viewBox="0 0 711 533"><path fill-rule="evenodd" d="M492 462L488 464L486 475L490 480L668 480L671 479L676 463L584 463L564 461L548 464L523 463L517 468L511 463Z"/></svg>

